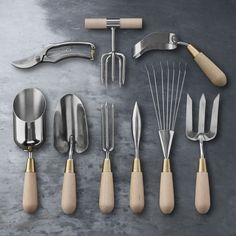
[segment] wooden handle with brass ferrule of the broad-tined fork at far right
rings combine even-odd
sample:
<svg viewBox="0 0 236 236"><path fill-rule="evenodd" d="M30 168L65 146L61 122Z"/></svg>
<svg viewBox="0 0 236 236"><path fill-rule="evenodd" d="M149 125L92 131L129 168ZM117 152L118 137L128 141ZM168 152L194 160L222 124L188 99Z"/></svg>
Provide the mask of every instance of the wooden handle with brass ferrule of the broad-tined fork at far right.
<svg viewBox="0 0 236 236"><path fill-rule="evenodd" d="M198 213L206 214L211 206L210 186L205 158L199 159L199 169L196 176L195 207Z"/></svg>

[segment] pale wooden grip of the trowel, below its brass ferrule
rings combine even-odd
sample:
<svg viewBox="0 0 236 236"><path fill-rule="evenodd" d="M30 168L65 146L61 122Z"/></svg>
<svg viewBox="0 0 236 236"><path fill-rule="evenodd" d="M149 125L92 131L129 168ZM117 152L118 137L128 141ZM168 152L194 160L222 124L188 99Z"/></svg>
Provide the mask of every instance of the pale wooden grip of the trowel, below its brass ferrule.
<svg viewBox="0 0 236 236"><path fill-rule="evenodd" d="M72 214L76 209L75 173L64 173L61 208L65 214Z"/></svg>

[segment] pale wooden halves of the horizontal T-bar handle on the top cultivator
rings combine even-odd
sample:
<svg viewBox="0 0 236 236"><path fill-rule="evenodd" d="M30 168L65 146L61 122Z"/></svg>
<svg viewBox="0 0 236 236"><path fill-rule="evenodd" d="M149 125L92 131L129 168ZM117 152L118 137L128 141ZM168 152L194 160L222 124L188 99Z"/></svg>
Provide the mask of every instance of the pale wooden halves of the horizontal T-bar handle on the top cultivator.
<svg viewBox="0 0 236 236"><path fill-rule="evenodd" d="M85 28L86 29L106 29L109 25L107 24L107 18L86 18ZM142 18L118 18L119 27L121 29L141 29L143 25Z"/></svg>

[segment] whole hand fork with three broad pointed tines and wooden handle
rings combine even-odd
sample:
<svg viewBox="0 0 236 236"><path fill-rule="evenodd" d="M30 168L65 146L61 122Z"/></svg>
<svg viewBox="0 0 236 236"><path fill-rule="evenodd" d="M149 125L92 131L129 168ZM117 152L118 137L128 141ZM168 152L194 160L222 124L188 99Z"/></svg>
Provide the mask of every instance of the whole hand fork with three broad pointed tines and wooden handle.
<svg viewBox="0 0 236 236"><path fill-rule="evenodd" d="M206 98L202 94L199 103L199 120L198 132L193 131L193 115L192 115L192 99L187 95L187 108L186 108L186 136L193 141L199 141L200 144L200 159L198 165L198 172L196 176L195 188L195 207L200 214L206 214L210 209L210 187L207 172L207 165L203 151L203 142L210 141L215 138L217 134L218 124L218 110L219 110L220 95L218 94L213 102L210 130L205 132L205 110Z"/></svg>

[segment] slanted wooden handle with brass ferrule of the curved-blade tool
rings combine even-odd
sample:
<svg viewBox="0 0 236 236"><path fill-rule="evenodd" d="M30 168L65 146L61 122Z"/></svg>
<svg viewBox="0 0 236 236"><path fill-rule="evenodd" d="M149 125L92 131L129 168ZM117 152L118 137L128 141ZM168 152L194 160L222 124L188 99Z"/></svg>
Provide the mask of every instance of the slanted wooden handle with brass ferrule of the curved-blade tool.
<svg viewBox="0 0 236 236"><path fill-rule="evenodd" d="M201 68L208 79L216 86L222 87L227 84L225 73L206 55L198 52L191 44L187 46L190 53L193 55L195 62Z"/></svg>

